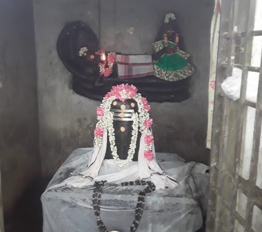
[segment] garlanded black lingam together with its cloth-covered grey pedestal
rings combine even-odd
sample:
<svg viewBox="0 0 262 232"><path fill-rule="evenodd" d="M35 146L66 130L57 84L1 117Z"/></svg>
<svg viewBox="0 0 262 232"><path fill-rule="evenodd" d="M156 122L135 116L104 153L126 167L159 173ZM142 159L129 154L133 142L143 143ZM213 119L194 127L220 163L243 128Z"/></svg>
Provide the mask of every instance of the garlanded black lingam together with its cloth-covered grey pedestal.
<svg viewBox="0 0 262 232"><path fill-rule="evenodd" d="M113 86L97 109L94 148L75 150L42 195L43 232L196 232L204 164L155 153L147 99ZM157 161L158 158L158 161Z"/></svg>

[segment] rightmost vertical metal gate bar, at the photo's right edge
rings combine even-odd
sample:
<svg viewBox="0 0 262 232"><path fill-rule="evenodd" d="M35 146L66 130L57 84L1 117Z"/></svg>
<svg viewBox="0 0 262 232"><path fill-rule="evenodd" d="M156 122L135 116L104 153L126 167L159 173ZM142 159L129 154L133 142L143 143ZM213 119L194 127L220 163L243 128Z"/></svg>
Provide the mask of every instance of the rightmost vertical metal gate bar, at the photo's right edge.
<svg viewBox="0 0 262 232"><path fill-rule="evenodd" d="M256 110L254 137L253 137L253 151L252 151L251 165L250 165L250 178L249 178L250 188L248 189L247 192L245 232L249 232L252 228L253 207L256 198L255 196L256 196L256 182L257 182L258 161L259 161L260 140L261 140L261 128L262 128L262 57L261 57L257 110Z"/></svg>

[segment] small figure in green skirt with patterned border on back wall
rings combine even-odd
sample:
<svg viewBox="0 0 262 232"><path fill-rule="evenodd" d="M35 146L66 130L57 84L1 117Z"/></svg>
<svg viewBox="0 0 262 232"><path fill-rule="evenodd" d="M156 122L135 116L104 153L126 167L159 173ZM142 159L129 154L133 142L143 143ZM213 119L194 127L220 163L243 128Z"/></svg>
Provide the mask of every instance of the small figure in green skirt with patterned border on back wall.
<svg viewBox="0 0 262 232"><path fill-rule="evenodd" d="M187 59L190 55L178 47L179 32L175 20L175 14L166 14L161 31L163 39L154 43L154 75L166 81L182 80L194 73Z"/></svg>

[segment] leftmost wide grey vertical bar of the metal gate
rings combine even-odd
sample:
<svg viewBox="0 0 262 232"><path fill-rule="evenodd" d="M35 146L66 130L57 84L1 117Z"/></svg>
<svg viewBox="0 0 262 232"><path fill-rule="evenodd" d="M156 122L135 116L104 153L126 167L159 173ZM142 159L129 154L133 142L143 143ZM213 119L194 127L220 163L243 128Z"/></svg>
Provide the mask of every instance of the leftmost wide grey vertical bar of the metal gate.
<svg viewBox="0 0 262 232"><path fill-rule="evenodd" d="M208 214L207 214L207 228L206 232L216 232L218 230L219 214L221 212L221 206L223 199L220 196L221 187L223 183L223 172L221 170L223 166L224 158L224 144L227 142L227 138L221 135L228 134L227 121L228 121L228 105L229 101L225 100L225 97L220 95L221 84L224 79L231 73L231 49L232 49L232 31L233 31L233 18L234 18L234 0L222 1L221 10L221 22L220 22L220 36L219 36L219 50L217 57L217 73L216 73L216 88L215 88L215 102L213 113L213 130L212 130L212 144L211 144L211 165L210 165L210 192L214 197L209 199ZM228 69L224 67L224 64L230 60ZM225 117L223 117L225 116ZM223 119L223 120L222 120ZM223 123L223 124L222 124ZM223 168L222 168L223 169ZM218 179L216 182L216 172L218 171ZM218 187L218 192L215 188ZM214 203L214 201L216 203ZM216 205L219 207L216 209ZM218 214L216 214L218 213ZM213 225L213 220L215 223ZM214 228L213 228L214 226Z"/></svg>

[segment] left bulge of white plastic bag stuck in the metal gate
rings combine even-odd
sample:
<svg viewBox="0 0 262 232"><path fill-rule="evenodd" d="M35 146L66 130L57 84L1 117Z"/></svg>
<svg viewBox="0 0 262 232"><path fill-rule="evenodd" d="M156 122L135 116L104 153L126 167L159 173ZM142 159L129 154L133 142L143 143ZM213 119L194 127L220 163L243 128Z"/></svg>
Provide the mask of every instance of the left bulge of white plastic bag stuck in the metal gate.
<svg viewBox="0 0 262 232"><path fill-rule="evenodd" d="M234 101L238 100L240 97L241 77L242 70L233 68L232 76L225 79L221 85L224 93Z"/></svg>

